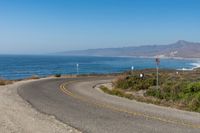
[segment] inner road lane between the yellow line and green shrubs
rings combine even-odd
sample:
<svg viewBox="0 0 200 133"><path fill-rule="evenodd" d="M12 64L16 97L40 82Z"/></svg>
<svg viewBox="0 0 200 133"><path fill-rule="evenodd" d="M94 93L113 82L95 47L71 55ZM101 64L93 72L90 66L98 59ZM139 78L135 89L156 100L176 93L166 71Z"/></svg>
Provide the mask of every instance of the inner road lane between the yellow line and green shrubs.
<svg viewBox="0 0 200 133"><path fill-rule="evenodd" d="M109 81L107 81L109 82ZM188 112L182 111L170 107L162 107L153 104L147 104L142 102L137 102L135 100L128 100L122 97L117 97L109 94L105 94L101 92L97 86L97 88L93 88L93 86L100 85L106 83L104 81L84 81L84 82L76 82L69 84L68 88L72 93L81 95L83 97L87 97L90 101L98 101L103 104L112 105L116 108L126 109L127 112L134 111L142 116L153 117L156 119L164 119L169 120L175 123L184 123L184 125L195 125L199 127L200 122L200 114L196 112ZM84 89L83 89L84 88Z"/></svg>

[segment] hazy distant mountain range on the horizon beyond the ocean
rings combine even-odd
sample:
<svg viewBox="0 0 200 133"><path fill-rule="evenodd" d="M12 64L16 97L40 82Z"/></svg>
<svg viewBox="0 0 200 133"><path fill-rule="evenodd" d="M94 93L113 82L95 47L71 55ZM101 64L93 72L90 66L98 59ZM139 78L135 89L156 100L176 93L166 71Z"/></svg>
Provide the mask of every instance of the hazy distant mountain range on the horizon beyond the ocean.
<svg viewBox="0 0 200 133"><path fill-rule="evenodd" d="M77 56L143 56L160 58L200 58L200 43L179 40L169 45L102 48L67 51L60 54Z"/></svg>

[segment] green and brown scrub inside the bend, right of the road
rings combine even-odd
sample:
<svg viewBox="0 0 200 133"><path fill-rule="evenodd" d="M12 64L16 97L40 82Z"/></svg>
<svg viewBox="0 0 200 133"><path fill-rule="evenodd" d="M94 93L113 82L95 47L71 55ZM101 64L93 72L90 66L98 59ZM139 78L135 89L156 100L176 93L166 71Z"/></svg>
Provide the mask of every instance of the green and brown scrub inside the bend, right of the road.
<svg viewBox="0 0 200 133"><path fill-rule="evenodd" d="M140 78L144 73L144 78ZM101 86L106 93L142 102L200 112L200 69L193 71L161 70L159 87L153 69L127 72L113 81L113 88Z"/></svg>

